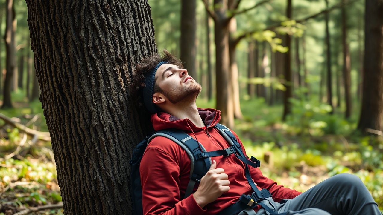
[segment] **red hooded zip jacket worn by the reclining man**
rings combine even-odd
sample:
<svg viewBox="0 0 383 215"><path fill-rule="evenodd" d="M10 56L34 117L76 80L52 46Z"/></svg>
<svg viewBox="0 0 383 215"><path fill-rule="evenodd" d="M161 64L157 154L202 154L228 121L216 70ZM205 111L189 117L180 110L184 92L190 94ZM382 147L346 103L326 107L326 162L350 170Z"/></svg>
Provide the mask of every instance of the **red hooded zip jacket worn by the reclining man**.
<svg viewBox="0 0 383 215"><path fill-rule="evenodd" d="M221 150L230 147L218 130L213 126L221 119L220 111L215 109L198 109L206 127L196 127L189 119L178 119L164 112L152 115L154 130L177 128L196 138L206 151ZM237 135L238 142L246 151ZM182 199L189 182L191 161L186 151L177 143L166 137L155 137L147 146L140 165L142 184L142 207L147 215L200 215L216 214L238 201L242 194L251 194L252 189L245 177L245 166L234 155L211 158L217 168L223 168L229 176L230 190L217 200L200 208L193 194ZM266 188L273 195L275 202L292 199L301 194L277 185L262 175L259 168L250 167L252 179L259 189ZM197 186L195 187L195 192ZM255 208L258 210L259 208Z"/></svg>

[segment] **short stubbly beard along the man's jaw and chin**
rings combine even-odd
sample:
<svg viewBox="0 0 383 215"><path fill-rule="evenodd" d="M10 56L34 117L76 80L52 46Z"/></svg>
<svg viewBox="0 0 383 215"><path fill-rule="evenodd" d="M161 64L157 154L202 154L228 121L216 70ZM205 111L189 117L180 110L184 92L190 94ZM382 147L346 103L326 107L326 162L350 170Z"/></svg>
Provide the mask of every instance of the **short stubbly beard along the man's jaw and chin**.
<svg viewBox="0 0 383 215"><path fill-rule="evenodd" d="M190 86L182 88L181 91L178 92L172 92L169 91L162 91L161 93L166 96L167 99L173 104L177 104L179 102L187 101L190 99L195 99L198 97L202 90L202 87L199 83L192 83Z"/></svg>

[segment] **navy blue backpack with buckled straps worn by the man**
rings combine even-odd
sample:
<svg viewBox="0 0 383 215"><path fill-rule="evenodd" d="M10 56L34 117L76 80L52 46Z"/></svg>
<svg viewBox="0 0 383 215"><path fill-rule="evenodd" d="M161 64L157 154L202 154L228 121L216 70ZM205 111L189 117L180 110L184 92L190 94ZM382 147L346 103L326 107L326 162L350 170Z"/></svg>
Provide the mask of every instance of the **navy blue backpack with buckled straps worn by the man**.
<svg viewBox="0 0 383 215"><path fill-rule="evenodd" d="M209 151L207 152L205 148L198 143L193 137L186 134L182 130L179 129L164 129L159 130L157 132L153 132L150 136L146 136L144 140L142 140L140 143L138 143L137 147L134 149L132 154L132 159L130 161L131 163L131 198L133 200L133 209L135 215L142 215L142 186L141 186L141 176L139 173L140 169L140 163L142 159L142 155L144 155L144 152L146 150L147 144L155 137L167 137L173 142L177 143L182 147L187 154L190 157L191 160L191 169L190 169L190 181L188 183L185 196L183 198L188 197L192 194L193 188L197 182L200 182L201 178L205 176L208 169L210 169L211 165L211 158L215 156L229 156L231 154L234 154L239 160L243 161L244 163L257 168L260 166L260 161L255 159L253 156L250 160L247 159L247 157L244 155L244 153L241 150L241 145L238 143L237 138L232 134L231 130L229 130L226 126L221 124L214 125L216 129L218 129L219 133L224 137L224 139L231 145L231 147L223 149L223 150L216 150L216 151ZM242 195L240 198L240 201L238 204L233 205L233 208L226 208L229 210L226 210L223 214L228 214L228 212L234 214L237 213L236 211L240 208L244 209L246 207L256 207L257 204L262 205L263 207L267 207L266 205L262 203L257 203L257 201L261 201L263 199L266 199L268 197L271 197L270 192L268 192L266 189L262 189L259 191L254 184L254 181L252 181L249 169L247 165L246 167L246 178L249 182L250 186L254 190L254 193L252 195ZM255 204L251 205L249 204L249 200L255 200ZM253 201L252 200L252 201ZM246 202L246 203L244 203ZM254 202L254 201L253 201ZM242 210L241 209L241 210ZM240 211L240 210L239 210ZM275 214L272 212L272 214Z"/></svg>

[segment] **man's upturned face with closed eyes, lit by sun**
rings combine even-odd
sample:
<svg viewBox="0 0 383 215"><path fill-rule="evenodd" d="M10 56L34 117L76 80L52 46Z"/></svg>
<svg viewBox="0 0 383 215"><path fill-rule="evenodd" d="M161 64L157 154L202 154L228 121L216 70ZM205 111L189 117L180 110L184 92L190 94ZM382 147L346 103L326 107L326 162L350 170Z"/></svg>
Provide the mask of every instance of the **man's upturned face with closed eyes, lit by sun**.
<svg viewBox="0 0 383 215"><path fill-rule="evenodd" d="M162 64L155 73L156 84L162 94L173 104L191 98L196 98L201 92L197 83L186 69L172 64Z"/></svg>

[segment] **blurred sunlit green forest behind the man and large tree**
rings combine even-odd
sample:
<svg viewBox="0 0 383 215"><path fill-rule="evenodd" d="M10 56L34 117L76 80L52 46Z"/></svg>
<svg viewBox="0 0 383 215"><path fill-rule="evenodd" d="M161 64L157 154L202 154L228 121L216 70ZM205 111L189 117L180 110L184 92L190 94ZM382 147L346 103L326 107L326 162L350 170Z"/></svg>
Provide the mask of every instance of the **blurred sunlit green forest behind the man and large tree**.
<svg viewBox="0 0 383 215"><path fill-rule="evenodd" d="M149 5L158 50L185 62L203 87L198 106L222 111L265 175L305 191L352 173L383 210L383 94L363 90L365 1ZM25 1L0 0L0 215L62 214L27 17ZM372 73L368 83L383 76Z"/></svg>

